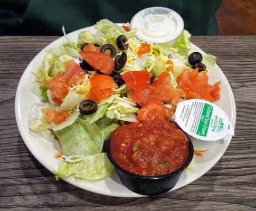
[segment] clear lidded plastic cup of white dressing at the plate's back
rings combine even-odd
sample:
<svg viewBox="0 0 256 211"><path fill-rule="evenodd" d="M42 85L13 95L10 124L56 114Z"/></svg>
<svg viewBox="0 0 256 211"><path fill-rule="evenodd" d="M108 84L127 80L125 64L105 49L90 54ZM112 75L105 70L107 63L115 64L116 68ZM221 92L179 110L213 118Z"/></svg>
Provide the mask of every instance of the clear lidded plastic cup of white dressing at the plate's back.
<svg viewBox="0 0 256 211"><path fill-rule="evenodd" d="M182 33L182 17L172 9L150 7L132 17L131 29L138 28L138 39L149 43L165 43Z"/></svg>

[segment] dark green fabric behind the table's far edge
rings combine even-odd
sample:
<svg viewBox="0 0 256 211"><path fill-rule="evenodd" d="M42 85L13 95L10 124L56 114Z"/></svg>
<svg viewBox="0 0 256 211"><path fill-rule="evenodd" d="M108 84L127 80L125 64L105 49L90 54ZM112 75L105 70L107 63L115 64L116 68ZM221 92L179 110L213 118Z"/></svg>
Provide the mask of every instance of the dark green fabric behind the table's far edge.
<svg viewBox="0 0 256 211"><path fill-rule="evenodd" d="M221 0L0 0L0 35L62 35L102 18L130 22L141 9L163 6L181 14L192 35L216 35L215 13Z"/></svg>

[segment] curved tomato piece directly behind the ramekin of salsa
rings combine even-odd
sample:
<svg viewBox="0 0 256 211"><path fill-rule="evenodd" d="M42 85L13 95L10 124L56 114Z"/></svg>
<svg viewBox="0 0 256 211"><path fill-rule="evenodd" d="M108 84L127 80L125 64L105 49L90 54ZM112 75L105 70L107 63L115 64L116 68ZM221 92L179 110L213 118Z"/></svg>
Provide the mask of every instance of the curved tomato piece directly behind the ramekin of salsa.
<svg viewBox="0 0 256 211"><path fill-rule="evenodd" d="M138 120L145 121L150 116L163 116L165 119L169 119L173 115L173 110L165 107L162 103L151 100L147 102L139 111L138 111Z"/></svg>

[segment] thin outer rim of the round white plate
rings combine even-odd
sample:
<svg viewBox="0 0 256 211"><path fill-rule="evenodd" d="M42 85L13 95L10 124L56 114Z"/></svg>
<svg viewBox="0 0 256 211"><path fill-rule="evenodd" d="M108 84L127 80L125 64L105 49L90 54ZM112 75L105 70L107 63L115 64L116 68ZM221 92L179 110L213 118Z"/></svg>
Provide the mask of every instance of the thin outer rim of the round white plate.
<svg viewBox="0 0 256 211"><path fill-rule="evenodd" d="M118 23L120 24L120 23ZM121 23L122 24L122 23ZM90 30L93 29L93 26L89 26L89 27L84 27L84 28L81 28L79 30L75 30L73 32L70 32L69 34L71 33L78 33L78 32L81 32L81 31L84 31L84 30ZM69 34L67 34L67 36L69 36ZM63 40L64 39L64 36L61 36L59 37L58 39L54 40L53 42L49 43L48 45L46 45L39 53L37 53L33 59L31 60L31 62L26 66L21 78L20 78L20 81L18 82L18 86L17 86L17 89L16 89L16 94L15 94L15 118L16 118L16 123L17 123L17 127L18 127L18 130L20 132L20 135L22 137L22 140L23 142L25 143L26 147L29 149L30 153L35 157L35 159L37 161L40 162L40 164L42 166L44 166L46 169L48 169L50 172L52 172L52 170L50 170L50 167L45 165L45 162L43 161L43 157L40 157L38 154L36 154L36 151L33 150L33 146L31 145L30 143L30 140L29 140L29 137L27 137L27 134L26 134L26 131L25 129L23 128L22 126L22 121L21 121L21 115L20 115L20 94L21 94L21 87L22 87L22 83L23 83L23 78L25 77L25 73L27 71L29 71L29 68L30 66L34 63L34 61L36 60L36 57L39 56L39 54L41 54L42 52L44 53L44 55L46 54L46 50L49 49L50 47L52 46L49 46L49 45L55 45L55 43L58 43L59 41ZM194 45L193 43L192 44L192 47L196 47L198 49L200 49L199 47L197 47L196 45ZM202 49L200 49L203 53L205 53ZM216 64L217 68L219 68L219 66ZM220 69L220 68L219 68ZM221 70L221 69L220 69ZM222 78L224 78L224 83L225 85L227 86L227 91L229 92L229 95L230 95L230 100L231 100L231 113L232 113L232 119L231 119L231 123L232 123L232 126L235 127L235 121L236 121L236 106L235 106L235 100L234 100L234 95L233 95L233 91L231 89L231 86L230 86L230 83L229 81L227 80L226 76L224 75L224 73L222 72L221 70L221 74L222 74ZM216 161L214 161L212 163L212 165L210 166L210 168L207 168L208 170L206 172L208 172L210 169L212 169L212 167L221 159L221 157L224 155L227 147L229 147L230 145L230 141L232 139L232 136L230 135L227 135L228 136L228 143L227 145L223 148L224 151L223 151L223 154L218 154L215 158L216 158ZM182 188L190 183L192 183L193 181L195 181L196 179L202 177L204 174L206 174L206 172L204 172L202 175L199 175L198 177L192 179L192 180L189 180L189 183L185 184L185 185L182 185L181 187L179 188ZM100 195L106 195L106 196L113 196L113 197L146 197L146 196L143 196L143 195L139 195L139 194L136 194L136 193L131 193L131 194L127 194L127 193L120 193L120 194L112 194L111 192L105 192L103 193L102 190L98 187L94 187L94 186L89 186L86 184L86 188L84 187L81 187L81 186L78 186L76 184L75 181L71 181L69 178L66 178L66 179L62 179L64 181L66 181L67 183L71 184L71 185L74 185L76 187L79 187L81 189L84 189L84 190L87 190L87 191L91 191L92 193L96 193L96 194L100 194ZM170 191L174 191L176 189L179 189L179 188L173 188L172 190Z"/></svg>

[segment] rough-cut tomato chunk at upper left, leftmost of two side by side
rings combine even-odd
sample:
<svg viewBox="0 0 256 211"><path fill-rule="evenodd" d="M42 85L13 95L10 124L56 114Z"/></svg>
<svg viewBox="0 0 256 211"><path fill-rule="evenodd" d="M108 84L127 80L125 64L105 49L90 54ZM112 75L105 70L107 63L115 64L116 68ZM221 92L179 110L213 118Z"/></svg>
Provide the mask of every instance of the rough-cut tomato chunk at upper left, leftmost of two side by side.
<svg viewBox="0 0 256 211"><path fill-rule="evenodd" d="M64 98L69 93L68 85L61 73L56 74L51 80L45 83L50 88L54 97Z"/></svg>

